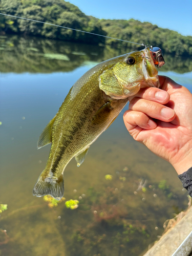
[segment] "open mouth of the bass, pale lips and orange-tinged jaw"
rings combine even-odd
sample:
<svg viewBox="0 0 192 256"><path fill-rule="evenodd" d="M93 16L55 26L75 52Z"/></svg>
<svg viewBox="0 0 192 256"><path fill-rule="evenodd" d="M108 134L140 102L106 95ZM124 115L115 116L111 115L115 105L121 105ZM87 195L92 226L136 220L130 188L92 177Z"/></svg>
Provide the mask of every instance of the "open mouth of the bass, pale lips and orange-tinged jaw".
<svg viewBox="0 0 192 256"><path fill-rule="evenodd" d="M140 69L144 76L144 81L141 83L141 88L145 87L160 87L158 72L155 68L154 61L150 54L150 49L145 48L143 51Z"/></svg>

